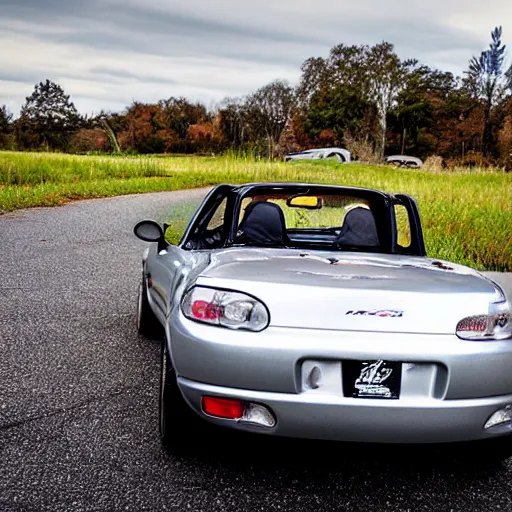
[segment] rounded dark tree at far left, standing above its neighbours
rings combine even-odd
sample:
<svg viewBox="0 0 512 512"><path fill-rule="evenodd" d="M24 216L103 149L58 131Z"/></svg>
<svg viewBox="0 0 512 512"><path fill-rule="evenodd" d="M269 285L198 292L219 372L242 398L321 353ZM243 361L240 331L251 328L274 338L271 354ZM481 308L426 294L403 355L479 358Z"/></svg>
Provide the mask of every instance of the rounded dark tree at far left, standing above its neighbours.
<svg viewBox="0 0 512 512"><path fill-rule="evenodd" d="M16 122L16 139L22 148L65 150L80 125L80 115L69 96L60 85L46 80L36 84L26 98Z"/></svg>

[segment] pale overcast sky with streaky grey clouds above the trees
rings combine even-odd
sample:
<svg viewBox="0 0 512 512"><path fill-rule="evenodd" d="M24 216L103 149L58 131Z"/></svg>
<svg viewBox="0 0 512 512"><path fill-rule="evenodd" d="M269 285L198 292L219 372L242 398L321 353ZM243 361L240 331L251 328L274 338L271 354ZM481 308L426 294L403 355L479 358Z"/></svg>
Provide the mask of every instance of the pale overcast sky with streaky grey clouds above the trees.
<svg viewBox="0 0 512 512"><path fill-rule="evenodd" d="M395 44L455 74L502 24L511 0L0 0L0 105L17 116L49 78L82 113L186 96L213 107L338 43Z"/></svg>

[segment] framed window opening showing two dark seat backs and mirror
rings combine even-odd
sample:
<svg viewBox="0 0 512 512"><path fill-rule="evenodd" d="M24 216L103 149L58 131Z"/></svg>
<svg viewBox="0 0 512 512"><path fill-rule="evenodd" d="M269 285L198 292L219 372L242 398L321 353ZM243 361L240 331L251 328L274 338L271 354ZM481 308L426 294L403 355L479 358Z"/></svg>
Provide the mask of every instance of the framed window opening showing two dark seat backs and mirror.
<svg viewBox="0 0 512 512"><path fill-rule="evenodd" d="M242 200L234 245L379 251L381 242L367 198L266 194Z"/></svg>

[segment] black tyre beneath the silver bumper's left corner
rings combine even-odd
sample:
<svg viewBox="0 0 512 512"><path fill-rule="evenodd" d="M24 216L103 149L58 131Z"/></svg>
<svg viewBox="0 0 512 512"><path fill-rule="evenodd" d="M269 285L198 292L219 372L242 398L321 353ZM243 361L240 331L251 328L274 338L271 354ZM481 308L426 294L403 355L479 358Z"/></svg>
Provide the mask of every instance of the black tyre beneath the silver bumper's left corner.
<svg viewBox="0 0 512 512"><path fill-rule="evenodd" d="M165 450L173 455L192 454L203 446L213 430L187 404L178 387L167 341L162 342L159 427Z"/></svg>

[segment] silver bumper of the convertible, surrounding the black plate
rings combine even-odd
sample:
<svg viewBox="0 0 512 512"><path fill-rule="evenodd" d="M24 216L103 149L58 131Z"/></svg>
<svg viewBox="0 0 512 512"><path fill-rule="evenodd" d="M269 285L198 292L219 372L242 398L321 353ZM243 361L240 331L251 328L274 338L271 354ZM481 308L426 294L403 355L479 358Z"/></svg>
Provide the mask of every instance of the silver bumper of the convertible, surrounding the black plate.
<svg viewBox="0 0 512 512"><path fill-rule="evenodd" d="M171 357L189 405L218 425L311 439L442 443L489 439L484 429L512 404L512 341L468 342L455 336L269 327L236 332L190 322L169 324ZM344 396L343 361L403 363L398 399ZM309 385L312 368L318 386ZM274 427L212 418L203 396L259 403Z"/></svg>

